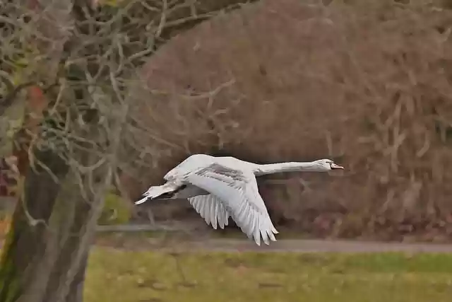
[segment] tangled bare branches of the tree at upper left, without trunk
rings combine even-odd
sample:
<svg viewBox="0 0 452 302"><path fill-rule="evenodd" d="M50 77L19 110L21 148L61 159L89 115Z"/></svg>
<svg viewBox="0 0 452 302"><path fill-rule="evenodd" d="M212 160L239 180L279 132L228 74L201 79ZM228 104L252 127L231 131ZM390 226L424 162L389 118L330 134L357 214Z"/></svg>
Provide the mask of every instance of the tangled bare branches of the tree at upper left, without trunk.
<svg viewBox="0 0 452 302"><path fill-rule="evenodd" d="M139 177L158 158L171 155L153 146L152 140L165 137L130 114L137 107L130 87L139 82L141 66L157 47L217 13L193 1L119 1L93 8L68 1L5 1L0 6L1 139L13 142L1 155L16 150L35 172L48 173L63 187L75 183L69 187L88 204L113 185L121 187L122 174ZM172 97L213 99L232 83ZM155 98L170 94L153 91ZM49 166L35 150L57 153L61 163ZM61 164L69 166L64 178L55 173ZM105 184L106 170L112 177ZM48 228L28 211L25 194L21 190L30 225Z"/></svg>

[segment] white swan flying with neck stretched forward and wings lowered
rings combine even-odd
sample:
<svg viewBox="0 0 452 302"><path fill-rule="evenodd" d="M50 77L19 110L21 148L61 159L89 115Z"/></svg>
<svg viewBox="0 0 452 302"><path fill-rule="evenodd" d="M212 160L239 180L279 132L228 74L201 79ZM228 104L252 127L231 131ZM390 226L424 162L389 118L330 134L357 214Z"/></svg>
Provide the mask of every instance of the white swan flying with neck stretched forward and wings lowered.
<svg viewBox="0 0 452 302"><path fill-rule="evenodd" d="M309 163L270 163L259 165L234 157L214 157L194 154L170 170L164 185L150 187L143 193L142 204L148 199L165 197L189 199L198 214L213 228L227 226L231 216L237 226L257 245L261 237L267 245L277 234L266 205L258 192L256 176L291 171L328 172L343 169L329 159Z"/></svg>

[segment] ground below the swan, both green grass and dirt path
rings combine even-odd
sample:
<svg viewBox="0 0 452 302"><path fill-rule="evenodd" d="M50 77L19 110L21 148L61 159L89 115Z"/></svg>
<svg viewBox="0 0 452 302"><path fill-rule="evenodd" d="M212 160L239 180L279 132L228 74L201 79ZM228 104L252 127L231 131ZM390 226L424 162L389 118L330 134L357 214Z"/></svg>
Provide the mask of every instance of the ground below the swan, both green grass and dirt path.
<svg viewBox="0 0 452 302"><path fill-rule="evenodd" d="M85 302L446 302L452 245L100 233Z"/></svg>

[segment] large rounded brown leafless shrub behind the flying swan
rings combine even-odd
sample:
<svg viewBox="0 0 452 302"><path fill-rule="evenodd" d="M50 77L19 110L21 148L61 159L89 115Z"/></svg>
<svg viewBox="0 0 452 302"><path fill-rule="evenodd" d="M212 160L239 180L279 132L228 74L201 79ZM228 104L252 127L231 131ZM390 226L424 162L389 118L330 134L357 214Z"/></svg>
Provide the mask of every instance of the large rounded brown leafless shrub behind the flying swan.
<svg viewBox="0 0 452 302"><path fill-rule="evenodd" d="M452 231L452 13L335 3L262 1L161 47L131 89L143 131L129 141L148 150L135 163L142 188L190 153L332 158L340 177L260 180L277 223L338 236Z"/></svg>

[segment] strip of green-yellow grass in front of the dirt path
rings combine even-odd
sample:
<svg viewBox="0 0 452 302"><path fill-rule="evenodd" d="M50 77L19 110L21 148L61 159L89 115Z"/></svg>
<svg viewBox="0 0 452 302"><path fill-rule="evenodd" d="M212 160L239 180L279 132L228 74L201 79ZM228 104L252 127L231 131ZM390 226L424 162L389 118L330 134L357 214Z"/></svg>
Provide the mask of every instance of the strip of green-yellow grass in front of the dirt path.
<svg viewBox="0 0 452 302"><path fill-rule="evenodd" d="M452 297L452 255L209 252L177 259L165 252L95 248L85 302L446 302Z"/></svg>

